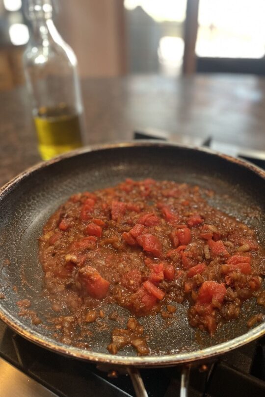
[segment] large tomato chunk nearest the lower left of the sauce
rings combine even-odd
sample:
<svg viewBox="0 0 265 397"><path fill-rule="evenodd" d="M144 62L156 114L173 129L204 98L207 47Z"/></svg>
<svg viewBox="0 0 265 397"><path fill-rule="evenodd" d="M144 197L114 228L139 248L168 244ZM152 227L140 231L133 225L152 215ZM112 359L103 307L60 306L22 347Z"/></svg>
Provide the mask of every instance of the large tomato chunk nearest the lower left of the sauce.
<svg viewBox="0 0 265 397"><path fill-rule="evenodd" d="M106 297L109 282L96 269L90 266L80 269L78 272L78 281L85 292L92 298L103 299Z"/></svg>

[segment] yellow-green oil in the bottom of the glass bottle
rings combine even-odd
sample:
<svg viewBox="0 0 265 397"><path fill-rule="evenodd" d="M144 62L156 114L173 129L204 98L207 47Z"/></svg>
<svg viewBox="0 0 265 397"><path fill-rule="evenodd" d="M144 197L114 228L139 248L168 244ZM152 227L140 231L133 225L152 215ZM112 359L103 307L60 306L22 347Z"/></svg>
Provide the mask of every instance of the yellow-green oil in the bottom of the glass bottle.
<svg viewBox="0 0 265 397"><path fill-rule="evenodd" d="M34 122L43 160L82 146L80 116L66 104L39 108Z"/></svg>

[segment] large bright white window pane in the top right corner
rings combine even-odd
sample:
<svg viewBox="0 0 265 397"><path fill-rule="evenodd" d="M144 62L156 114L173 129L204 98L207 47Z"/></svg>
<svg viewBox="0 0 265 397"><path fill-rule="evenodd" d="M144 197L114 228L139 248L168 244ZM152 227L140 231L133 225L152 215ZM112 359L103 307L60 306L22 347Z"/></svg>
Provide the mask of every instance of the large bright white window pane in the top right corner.
<svg viewBox="0 0 265 397"><path fill-rule="evenodd" d="M196 54L202 57L262 58L264 0L200 0Z"/></svg>

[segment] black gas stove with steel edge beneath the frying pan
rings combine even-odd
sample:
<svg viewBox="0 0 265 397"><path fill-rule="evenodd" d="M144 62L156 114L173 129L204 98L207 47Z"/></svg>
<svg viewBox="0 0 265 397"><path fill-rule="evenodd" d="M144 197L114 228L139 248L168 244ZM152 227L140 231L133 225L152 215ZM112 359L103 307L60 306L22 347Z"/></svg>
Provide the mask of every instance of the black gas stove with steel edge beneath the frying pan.
<svg viewBox="0 0 265 397"><path fill-rule="evenodd" d="M165 140L168 135L158 131L140 131L134 137ZM238 155L265 168L263 153L218 146L209 138L185 137L183 141L183 137L175 136L175 141L208 146L226 153L230 151L227 154ZM143 369L140 372L149 397L179 395L179 368ZM128 375L113 377L112 372L103 372L95 364L38 347L0 321L0 397L11 396L133 397L135 393ZM191 369L188 396L264 397L265 337L233 350L207 366Z"/></svg>

